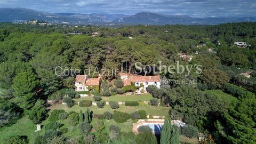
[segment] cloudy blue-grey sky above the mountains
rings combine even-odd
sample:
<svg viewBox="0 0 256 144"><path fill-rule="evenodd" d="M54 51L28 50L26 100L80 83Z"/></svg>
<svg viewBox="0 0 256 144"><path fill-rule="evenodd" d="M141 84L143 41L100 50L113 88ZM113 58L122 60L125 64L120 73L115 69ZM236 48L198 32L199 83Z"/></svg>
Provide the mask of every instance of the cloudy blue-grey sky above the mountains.
<svg viewBox="0 0 256 144"><path fill-rule="evenodd" d="M142 11L190 17L256 17L255 0L0 0L0 7L23 7L51 13L121 13Z"/></svg>

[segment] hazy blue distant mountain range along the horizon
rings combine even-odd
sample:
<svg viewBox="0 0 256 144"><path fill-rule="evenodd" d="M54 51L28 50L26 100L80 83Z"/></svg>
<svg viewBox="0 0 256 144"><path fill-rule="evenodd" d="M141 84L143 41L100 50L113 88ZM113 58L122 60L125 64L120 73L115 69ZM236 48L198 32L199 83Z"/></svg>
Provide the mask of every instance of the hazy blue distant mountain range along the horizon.
<svg viewBox="0 0 256 144"><path fill-rule="evenodd" d="M245 18L193 18L186 15L164 15L140 12L134 15L107 13L48 13L23 8L0 9L0 22L26 22L41 20L69 25L217 25L227 22L256 21L256 17Z"/></svg>

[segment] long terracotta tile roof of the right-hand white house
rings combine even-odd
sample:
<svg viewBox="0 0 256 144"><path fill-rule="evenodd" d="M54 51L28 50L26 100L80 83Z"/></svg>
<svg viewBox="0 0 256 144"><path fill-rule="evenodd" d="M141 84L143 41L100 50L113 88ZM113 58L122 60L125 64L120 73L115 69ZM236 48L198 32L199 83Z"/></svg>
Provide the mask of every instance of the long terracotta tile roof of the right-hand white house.
<svg viewBox="0 0 256 144"><path fill-rule="evenodd" d="M131 82L161 82L159 76L131 76Z"/></svg>

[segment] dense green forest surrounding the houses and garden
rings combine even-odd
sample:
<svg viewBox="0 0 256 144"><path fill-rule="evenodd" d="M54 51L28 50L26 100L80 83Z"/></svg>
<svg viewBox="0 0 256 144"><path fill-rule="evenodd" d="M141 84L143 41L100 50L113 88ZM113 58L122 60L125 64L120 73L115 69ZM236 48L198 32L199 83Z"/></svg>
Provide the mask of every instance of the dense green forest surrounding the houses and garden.
<svg viewBox="0 0 256 144"><path fill-rule="evenodd" d="M234 42L246 42L247 47L238 47ZM179 53L193 55L193 59L183 60ZM158 61L167 66L177 66L177 61L179 65L202 66L201 74L196 70L191 70L189 75L161 73L161 89L148 87L148 92L161 106L170 108L171 119L181 119L199 132L210 134L214 141L205 143L256 143L255 22L119 28L0 23L0 127L15 124L23 116L29 116L35 124L41 123L49 115L45 105L47 100L61 101L63 95L73 93L65 90L74 89L75 75L57 76L56 67L61 67L62 71L79 69L79 74L97 77L87 73L86 69L117 69L117 73L133 73L138 70L136 62L153 67ZM250 73L251 77L239 75L241 73ZM117 75L103 75L101 87L117 78ZM195 80L201 83L189 83ZM180 81L188 83L178 83ZM103 90L99 93L105 92ZM213 90L233 95L236 101L222 100L210 93ZM104 129L100 121L97 123L99 127L94 129ZM50 122L49 129L53 129L53 125L59 127ZM83 126L90 127L88 123ZM112 128L118 131L118 127ZM175 127L170 129L175 132ZM81 139L94 138L88 132L84 133L86 136ZM49 136L51 134L53 136ZM115 139L103 132L97 134L95 143L159 143L162 140L162 135L159 140L148 133L135 137L132 133L119 132ZM62 138L54 130L45 133L44 137L47 135L49 139L56 140L57 135ZM37 138L37 141L42 139Z"/></svg>

